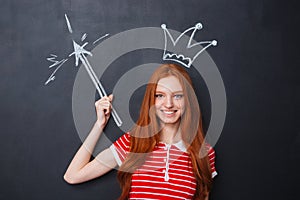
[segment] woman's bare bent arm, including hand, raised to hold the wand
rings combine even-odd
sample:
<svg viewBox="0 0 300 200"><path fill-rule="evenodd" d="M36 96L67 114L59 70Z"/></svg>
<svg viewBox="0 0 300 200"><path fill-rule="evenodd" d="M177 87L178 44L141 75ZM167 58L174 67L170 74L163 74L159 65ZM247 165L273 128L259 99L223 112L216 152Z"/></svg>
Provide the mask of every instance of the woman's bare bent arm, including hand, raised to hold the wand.
<svg viewBox="0 0 300 200"><path fill-rule="evenodd" d="M112 95L103 97L95 103L97 121L65 172L66 182L82 183L105 174L117 165L110 149L105 149L90 161L92 152L110 117L111 101Z"/></svg>

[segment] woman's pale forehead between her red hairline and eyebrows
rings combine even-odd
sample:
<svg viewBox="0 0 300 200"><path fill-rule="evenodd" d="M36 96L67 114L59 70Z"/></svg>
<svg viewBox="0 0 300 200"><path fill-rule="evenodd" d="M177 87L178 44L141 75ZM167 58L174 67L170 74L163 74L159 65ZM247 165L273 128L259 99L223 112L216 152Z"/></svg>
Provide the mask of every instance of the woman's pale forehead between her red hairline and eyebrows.
<svg viewBox="0 0 300 200"><path fill-rule="evenodd" d="M156 90L178 92L178 91L182 91L182 86L179 80L175 76L168 76L160 79L157 82Z"/></svg>

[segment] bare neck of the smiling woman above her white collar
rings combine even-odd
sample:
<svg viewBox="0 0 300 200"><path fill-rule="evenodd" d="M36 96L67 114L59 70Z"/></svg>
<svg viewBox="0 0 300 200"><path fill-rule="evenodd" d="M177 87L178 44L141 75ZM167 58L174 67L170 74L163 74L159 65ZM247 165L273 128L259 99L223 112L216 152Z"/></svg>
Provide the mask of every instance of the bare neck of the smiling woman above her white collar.
<svg viewBox="0 0 300 200"><path fill-rule="evenodd" d="M176 124L164 124L163 129L160 132L160 141L173 144L181 140L181 130L179 123Z"/></svg>

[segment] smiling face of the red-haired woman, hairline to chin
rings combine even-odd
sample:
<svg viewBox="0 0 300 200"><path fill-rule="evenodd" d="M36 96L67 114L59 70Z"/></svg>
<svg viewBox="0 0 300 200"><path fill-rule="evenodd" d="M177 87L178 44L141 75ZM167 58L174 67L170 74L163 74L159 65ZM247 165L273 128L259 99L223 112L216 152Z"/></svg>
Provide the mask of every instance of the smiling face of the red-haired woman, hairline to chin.
<svg viewBox="0 0 300 200"><path fill-rule="evenodd" d="M184 113L182 86L175 76L158 81L155 92L156 115L164 124L176 124Z"/></svg>

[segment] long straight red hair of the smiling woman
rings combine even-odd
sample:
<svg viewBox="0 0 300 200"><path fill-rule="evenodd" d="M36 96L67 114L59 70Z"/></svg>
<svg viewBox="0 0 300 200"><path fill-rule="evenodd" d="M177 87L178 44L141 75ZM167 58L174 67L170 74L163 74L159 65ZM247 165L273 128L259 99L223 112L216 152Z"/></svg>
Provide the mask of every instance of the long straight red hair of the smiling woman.
<svg viewBox="0 0 300 200"><path fill-rule="evenodd" d="M211 169L207 156L200 157L204 133L198 99L188 73L175 64L163 64L152 74L142 101L136 125L130 131L129 154L120 166L118 181L122 188L120 200L128 199L132 174L143 165L147 154L152 152L160 139L160 123L154 110L155 92L161 78L175 76L183 89L185 111L180 119L181 137L191 158L197 188L194 199L204 200L212 186Z"/></svg>

